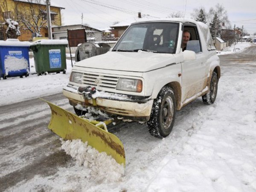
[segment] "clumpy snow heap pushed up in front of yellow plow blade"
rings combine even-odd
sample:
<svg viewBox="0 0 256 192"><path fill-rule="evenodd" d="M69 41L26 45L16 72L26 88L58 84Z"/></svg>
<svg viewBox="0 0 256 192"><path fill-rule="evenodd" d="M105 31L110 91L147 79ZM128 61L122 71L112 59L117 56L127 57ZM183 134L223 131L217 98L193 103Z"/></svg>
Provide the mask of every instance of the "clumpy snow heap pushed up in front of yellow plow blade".
<svg viewBox="0 0 256 192"><path fill-rule="evenodd" d="M98 152L93 147L83 143L80 139L61 139L61 148L72 158L76 159L79 166L90 169L90 176L98 182L120 182L124 175L124 167L107 155L105 152Z"/></svg>

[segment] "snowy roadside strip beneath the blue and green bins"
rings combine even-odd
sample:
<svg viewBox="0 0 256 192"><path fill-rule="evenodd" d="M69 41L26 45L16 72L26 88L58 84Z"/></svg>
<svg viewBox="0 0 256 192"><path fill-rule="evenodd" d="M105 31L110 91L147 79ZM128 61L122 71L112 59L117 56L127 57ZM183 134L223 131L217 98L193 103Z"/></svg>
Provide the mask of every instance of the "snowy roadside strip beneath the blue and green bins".
<svg viewBox="0 0 256 192"><path fill-rule="evenodd" d="M48 73L38 76L35 71L34 58L29 59L30 74L28 77L7 77L0 80L0 104L10 104L26 99L60 93L68 84L71 60L67 59L66 74ZM74 61L73 61L74 63Z"/></svg>

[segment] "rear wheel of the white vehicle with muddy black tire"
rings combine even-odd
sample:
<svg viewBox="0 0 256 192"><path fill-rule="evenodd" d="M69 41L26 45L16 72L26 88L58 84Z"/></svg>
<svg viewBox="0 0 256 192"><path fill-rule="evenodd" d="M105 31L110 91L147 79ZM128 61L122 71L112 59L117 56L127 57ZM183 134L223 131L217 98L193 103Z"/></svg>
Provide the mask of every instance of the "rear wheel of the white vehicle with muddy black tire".
<svg viewBox="0 0 256 192"><path fill-rule="evenodd" d="M218 92L218 76L217 76L217 73L213 71L210 90L208 93L202 96L204 104L213 104L215 102L217 92Z"/></svg>

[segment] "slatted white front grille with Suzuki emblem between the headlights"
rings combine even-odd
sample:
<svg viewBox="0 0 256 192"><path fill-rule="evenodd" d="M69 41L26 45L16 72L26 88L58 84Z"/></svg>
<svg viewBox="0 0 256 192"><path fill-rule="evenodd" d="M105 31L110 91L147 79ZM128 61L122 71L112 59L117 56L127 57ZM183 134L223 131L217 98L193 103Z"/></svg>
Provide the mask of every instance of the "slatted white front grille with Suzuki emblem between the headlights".
<svg viewBox="0 0 256 192"><path fill-rule="evenodd" d="M96 88L116 89L116 84L119 77L99 75L92 73L83 73L83 85L93 86Z"/></svg>

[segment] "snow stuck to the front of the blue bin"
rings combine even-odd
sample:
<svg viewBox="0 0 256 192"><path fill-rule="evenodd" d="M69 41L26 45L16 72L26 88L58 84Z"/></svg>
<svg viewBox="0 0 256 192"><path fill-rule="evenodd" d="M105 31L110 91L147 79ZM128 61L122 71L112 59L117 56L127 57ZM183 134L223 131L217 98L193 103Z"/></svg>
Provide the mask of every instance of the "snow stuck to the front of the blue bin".
<svg viewBox="0 0 256 192"><path fill-rule="evenodd" d="M10 71L20 71L22 69L27 69L27 72L29 73L29 62L24 57L17 58L15 56L7 55L5 56L4 64L6 75L8 75Z"/></svg>

